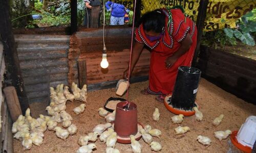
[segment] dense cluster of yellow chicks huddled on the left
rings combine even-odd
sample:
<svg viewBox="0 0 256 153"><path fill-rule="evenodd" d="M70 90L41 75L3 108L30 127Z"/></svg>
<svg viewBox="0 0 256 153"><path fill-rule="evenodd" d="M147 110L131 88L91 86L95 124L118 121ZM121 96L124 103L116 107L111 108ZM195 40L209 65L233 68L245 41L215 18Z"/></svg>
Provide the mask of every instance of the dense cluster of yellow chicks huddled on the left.
<svg viewBox="0 0 256 153"><path fill-rule="evenodd" d="M48 129L49 131L55 131L58 138L66 140L69 135L77 133L76 125L72 124L72 116L67 113L66 102L67 100L80 100L87 101L87 86L84 85L82 89L79 89L75 83L72 83L72 93L69 92L69 87L63 84L57 85L56 89L50 87L50 106L46 107L48 115L45 116L40 114L37 119L31 117L30 109L26 110L26 115L19 115L18 119L12 125L12 133L14 138L22 138L22 145L26 150L31 149L32 144L41 145L44 132ZM80 114L84 111L86 105L81 104L80 106L73 109L75 114ZM62 126L67 129L62 129L57 126L58 123L62 122Z"/></svg>

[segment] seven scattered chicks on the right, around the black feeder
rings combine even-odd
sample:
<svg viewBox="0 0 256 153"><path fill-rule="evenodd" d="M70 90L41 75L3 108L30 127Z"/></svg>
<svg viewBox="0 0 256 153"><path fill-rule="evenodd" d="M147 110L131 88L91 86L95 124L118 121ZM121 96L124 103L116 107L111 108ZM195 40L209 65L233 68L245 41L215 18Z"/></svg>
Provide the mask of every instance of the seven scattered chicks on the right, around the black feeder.
<svg viewBox="0 0 256 153"><path fill-rule="evenodd" d="M201 111L198 110L197 107L194 107L193 110L195 111L195 117L197 121L202 121L203 119L203 113ZM155 111L153 113L153 120L154 121L158 121L160 117L160 113L158 108L155 108ZM224 115L221 114L220 116L216 117L213 121L212 121L212 125L214 126L218 126L222 119L223 119ZM175 115L172 117L172 122L174 124L179 124L183 121L184 115L183 114L179 114L179 115ZM187 131L190 131L190 128L188 126L178 126L175 129L175 135L179 135L179 134L184 134ZM220 141L222 139L226 139L229 135L231 134L230 130L226 130L226 131L217 131L214 133L215 138L219 139ZM199 135L197 137L197 140L199 143L203 144L203 145L207 145L209 146L211 144L211 140L210 138L206 137L206 136L202 136Z"/></svg>

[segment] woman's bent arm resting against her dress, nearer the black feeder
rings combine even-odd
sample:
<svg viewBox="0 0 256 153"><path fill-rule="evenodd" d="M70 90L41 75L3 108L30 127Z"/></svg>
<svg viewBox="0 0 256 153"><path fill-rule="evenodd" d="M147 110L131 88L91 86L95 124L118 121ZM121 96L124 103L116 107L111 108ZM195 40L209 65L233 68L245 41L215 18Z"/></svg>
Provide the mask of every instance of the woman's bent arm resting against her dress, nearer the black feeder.
<svg viewBox="0 0 256 153"><path fill-rule="evenodd" d="M166 68L170 68L177 61L178 58L185 54L192 43L193 41L191 39L191 36L187 34L187 36L181 42L180 48L177 50L177 52L175 52L172 56L168 57L165 60Z"/></svg>

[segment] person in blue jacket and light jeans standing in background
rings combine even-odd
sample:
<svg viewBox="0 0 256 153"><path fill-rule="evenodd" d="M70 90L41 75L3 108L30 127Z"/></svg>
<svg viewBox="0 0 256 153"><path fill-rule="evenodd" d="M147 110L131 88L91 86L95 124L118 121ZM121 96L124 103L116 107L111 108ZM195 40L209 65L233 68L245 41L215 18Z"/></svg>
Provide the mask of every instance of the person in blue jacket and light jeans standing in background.
<svg viewBox="0 0 256 153"><path fill-rule="evenodd" d="M122 4L117 4L111 1L105 3L106 9L111 12L110 25L123 25L124 14L129 13L130 10Z"/></svg>

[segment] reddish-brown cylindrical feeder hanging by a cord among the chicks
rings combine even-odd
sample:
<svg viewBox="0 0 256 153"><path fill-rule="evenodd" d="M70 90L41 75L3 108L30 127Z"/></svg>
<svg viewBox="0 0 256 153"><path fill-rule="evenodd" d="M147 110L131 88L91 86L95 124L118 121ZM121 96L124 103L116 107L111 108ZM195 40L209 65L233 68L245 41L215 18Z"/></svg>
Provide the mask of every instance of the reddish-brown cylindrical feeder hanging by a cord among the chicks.
<svg viewBox="0 0 256 153"><path fill-rule="evenodd" d="M126 109L127 103L130 103L129 109ZM137 121L137 105L132 102L121 101L116 106L114 131L117 133L117 142L131 143L130 135L134 135L136 140L141 138L138 129L142 125Z"/></svg>

